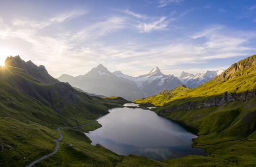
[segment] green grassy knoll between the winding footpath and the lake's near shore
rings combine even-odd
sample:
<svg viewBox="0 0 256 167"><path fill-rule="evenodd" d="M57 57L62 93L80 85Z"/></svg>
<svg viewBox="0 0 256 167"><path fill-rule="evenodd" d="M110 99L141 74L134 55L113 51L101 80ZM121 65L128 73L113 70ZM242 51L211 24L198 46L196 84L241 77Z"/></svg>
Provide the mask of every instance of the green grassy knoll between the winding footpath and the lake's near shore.
<svg viewBox="0 0 256 167"><path fill-rule="evenodd" d="M35 167L113 167L123 157L99 144L91 145L92 141L81 131L63 129L62 133L64 138L60 142L60 151L38 162Z"/></svg>

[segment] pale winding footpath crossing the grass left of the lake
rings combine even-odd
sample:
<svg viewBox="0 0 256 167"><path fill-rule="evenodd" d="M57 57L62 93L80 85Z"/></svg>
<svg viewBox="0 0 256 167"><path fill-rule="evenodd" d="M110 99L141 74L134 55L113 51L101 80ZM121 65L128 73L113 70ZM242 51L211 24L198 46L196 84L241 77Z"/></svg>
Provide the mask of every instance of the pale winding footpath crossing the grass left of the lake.
<svg viewBox="0 0 256 167"><path fill-rule="evenodd" d="M120 105L118 105L117 107L120 107ZM115 108L116 108L116 107L115 107ZM112 109L113 109L113 108L112 108ZM108 110L110 110L110 109L108 109ZM58 128L58 132L60 133L60 136L61 136L61 137L60 137L60 139L55 139L55 140L54 140L54 141L56 142L56 147L55 147L54 151L53 151L52 153L48 154L48 155L45 155L45 156L43 156L43 157L41 157L41 158L39 158L39 159L33 161L30 165L28 165L28 166L26 166L26 167L32 167L35 163L37 163L37 162L39 162L39 161L41 161L41 160L43 160L43 159L45 159L45 158L47 158L47 157L49 157L49 156L55 154L55 153L58 151L58 149L59 149L59 147L60 147L60 146L59 146L59 141L63 138L63 135L62 135L61 130L60 130L61 128L69 128L69 129L70 129L70 128L78 128L78 127L81 127L81 126L90 125L90 124L95 123L98 118L100 118L101 116L106 115L106 114L108 114L108 113L109 113L109 111L108 111L107 113L104 113L104 114L99 115L99 117L97 117L93 122L88 123L88 124L79 125L79 126L73 126L73 127L59 127L59 128Z"/></svg>

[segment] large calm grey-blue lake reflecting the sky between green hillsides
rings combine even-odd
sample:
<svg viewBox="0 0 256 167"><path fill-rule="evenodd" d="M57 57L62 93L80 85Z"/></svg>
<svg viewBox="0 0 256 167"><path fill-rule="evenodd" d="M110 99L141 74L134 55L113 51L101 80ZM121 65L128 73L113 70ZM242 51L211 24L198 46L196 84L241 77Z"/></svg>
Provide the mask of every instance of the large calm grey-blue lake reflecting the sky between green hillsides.
<svg viewBox="0 0 256 167"><path fill-rule="evenodd" d="M158 161L206 155L204 150L192 148L196 135L154 111L114 108L109 112L98 119L101 128L85 133L93 145L99 143L120 155L143 155Z"/></svg>

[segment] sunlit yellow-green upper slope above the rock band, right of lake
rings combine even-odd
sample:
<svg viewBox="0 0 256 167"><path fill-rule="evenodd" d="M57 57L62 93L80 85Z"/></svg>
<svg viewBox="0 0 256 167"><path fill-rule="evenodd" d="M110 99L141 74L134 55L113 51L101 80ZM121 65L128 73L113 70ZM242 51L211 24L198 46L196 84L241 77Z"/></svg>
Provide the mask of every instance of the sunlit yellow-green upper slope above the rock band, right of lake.
<svg viewBox="0 0 256 167"><path fill-rule="evenodd" d="M136 103L147 103L150 102L154 105L163 106L168 109L171 106L177 106L186 102L195 102L209 99L211 97L223 97L224 92L228 93L243 93L248 90L255 89L256 85L256 65L253 63L256 61L256 55L248 57L244 60L239 61L237 64L244 63L242 66L246 67L247 61L252 62L252 66L248 68L241 69L241 71L233 71L235 68L232 65L226 71L229 72L228 76L218 76L210 82L204 83L193 89L186 91L181 90L179 93L167 93L158 94L156 96L151 96L146 99L137 99ZM179 87L178 87L179 88ZM174 89L176 90L176 89ZM168 104L167 104L168 103ZM164 107L161 108L165 109Z"/></svg>

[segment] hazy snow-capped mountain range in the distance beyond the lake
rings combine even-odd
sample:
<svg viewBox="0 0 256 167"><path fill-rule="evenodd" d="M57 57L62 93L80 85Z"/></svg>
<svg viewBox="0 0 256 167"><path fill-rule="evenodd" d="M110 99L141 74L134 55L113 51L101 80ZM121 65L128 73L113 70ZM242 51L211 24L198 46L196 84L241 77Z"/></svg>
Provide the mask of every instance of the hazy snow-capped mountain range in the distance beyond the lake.
<svg viewBox="0 0 256 167"><path fill-rule="evenodd" d="M135 100L156 95L165 89L174 89L182 84L193 88L212 80L221 72L223 71L206 71L198 74L183 72L178 78L170 74L164 75L158 67L155 67L148 74L131 77L121 71L111 73L106 67L99 64L85 75L73 77L63 74L57 79L61 82L68 82L85 92Z"/></svg>

